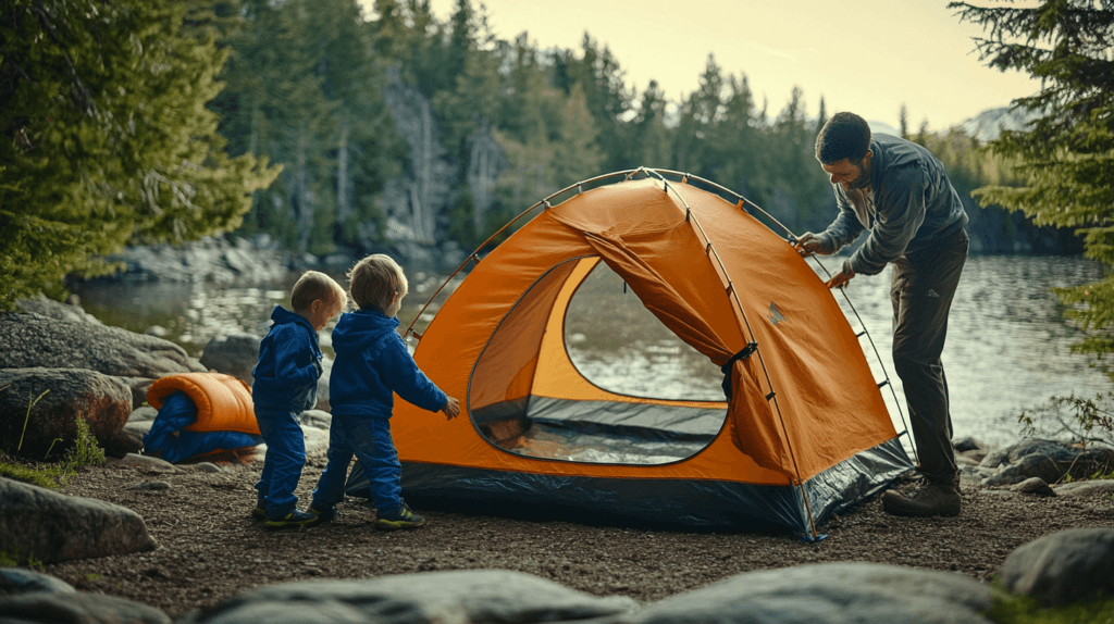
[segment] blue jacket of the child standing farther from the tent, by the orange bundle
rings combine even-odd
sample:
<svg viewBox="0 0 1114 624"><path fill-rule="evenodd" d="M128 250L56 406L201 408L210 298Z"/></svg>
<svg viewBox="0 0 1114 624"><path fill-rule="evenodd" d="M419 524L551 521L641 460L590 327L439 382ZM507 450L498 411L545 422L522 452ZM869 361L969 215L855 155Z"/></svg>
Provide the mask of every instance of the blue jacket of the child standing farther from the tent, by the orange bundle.
<svg viewBox="0 0 1114 624"><path fill-rule="evenodd" d="M301 413L316 404L321 347L309 320L275 306L274 325L260 343L260 361L252 369L256 412Z"/></svg>

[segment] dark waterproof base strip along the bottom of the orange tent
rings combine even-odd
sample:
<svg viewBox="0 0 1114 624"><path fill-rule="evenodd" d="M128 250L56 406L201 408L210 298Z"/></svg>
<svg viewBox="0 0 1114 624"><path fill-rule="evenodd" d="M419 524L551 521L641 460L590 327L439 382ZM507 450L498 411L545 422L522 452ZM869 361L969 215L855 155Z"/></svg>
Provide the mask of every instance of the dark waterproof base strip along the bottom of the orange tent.
<svg viewBox="0 0 1114 624"><path fill-rule="evenodd" d="M910 469L897 438L804 483L818 525ZM356 463L349 496L370 497ZM417 509L682 531L808 533L801 488L709 479L622 479L402 463L402 494Z"/></svg>

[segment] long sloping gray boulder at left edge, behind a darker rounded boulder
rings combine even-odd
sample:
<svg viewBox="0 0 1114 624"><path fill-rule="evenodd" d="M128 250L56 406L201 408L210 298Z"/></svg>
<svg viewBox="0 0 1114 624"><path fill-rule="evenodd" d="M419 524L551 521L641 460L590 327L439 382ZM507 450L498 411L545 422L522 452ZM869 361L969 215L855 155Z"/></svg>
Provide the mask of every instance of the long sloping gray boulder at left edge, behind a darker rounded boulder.
<svg viewBox="0 0 1114 624"><path fill-rule="evenodd" d="M0 314L0 368L33 366L145 379L206 372L178 345L146 334L35 313Z"/></svg>

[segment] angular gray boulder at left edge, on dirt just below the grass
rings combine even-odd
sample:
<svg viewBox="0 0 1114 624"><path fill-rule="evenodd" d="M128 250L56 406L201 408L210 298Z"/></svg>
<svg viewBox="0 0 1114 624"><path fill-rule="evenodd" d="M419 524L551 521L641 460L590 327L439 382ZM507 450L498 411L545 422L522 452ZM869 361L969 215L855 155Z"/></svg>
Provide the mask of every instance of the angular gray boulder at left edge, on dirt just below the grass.
<svg viewBox="0 0 1114 624"><path fill-rule="evenodd" d="M153 551L138 514L0 477L0 551L43 563Z"/></svg>

